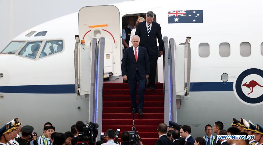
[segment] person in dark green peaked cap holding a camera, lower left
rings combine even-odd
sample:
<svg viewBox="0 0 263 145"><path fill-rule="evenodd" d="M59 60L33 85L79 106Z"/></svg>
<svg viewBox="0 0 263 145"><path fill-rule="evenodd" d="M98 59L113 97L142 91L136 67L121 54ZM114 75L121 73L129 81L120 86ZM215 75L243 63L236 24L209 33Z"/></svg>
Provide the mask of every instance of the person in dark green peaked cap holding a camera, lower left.
<svg viewBox="0 0 263 145"><path fill-rule="evenodd" d="M20 145L30 145L29 142L34 140L34 145L38 145L37 144L37 135L34 133L32 134L33 130L34 130L34 127L32 127L30 125L23 126L21 128L22 137L16 139L16 141Z"/></svg>

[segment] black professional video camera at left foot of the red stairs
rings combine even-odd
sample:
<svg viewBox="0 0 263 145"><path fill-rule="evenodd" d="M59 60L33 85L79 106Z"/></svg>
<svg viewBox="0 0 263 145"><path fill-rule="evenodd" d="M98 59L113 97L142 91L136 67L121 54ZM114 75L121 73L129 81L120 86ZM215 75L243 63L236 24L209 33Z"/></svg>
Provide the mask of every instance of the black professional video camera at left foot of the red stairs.
<svg viewBox="0 0 263 145"><path fill-rule="evenodd" d="M98 136L98 123L89 122L83 127L83 139L89 142L89 145L94 145Z"/></svg>

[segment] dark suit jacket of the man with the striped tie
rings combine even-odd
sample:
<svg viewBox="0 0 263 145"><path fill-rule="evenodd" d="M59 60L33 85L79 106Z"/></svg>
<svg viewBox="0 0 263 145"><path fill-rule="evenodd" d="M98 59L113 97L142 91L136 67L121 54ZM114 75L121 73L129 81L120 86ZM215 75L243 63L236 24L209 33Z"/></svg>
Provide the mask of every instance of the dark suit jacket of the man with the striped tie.
<svg viewBox="0 0 263 145"><path fill-rule="evenodd" d="M149 37L147 34L146 21L139 23L136 28L135 35L140 37L139 46L145 47L149 53L149 56L158 56L159 51L157 48L156 37L159 42L159 50L163 51L164 42L161 34L161 26L158 23L152 22L152 28L150 30Z"/></svg>

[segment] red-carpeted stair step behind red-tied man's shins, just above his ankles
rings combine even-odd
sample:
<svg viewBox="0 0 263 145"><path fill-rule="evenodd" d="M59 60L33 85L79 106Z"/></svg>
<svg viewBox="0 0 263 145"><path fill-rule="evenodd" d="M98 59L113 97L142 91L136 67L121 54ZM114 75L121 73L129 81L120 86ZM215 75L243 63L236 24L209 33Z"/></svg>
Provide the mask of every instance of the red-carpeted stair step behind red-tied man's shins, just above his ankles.
<svg viewBox="0 0 263 145"><path fill-rule="evenodd" d="M138 101L137 101L138 104ZM130 101L103 101L103 107L127 107ZM144 101L144 107L163 107L164 101Z"/></svg>

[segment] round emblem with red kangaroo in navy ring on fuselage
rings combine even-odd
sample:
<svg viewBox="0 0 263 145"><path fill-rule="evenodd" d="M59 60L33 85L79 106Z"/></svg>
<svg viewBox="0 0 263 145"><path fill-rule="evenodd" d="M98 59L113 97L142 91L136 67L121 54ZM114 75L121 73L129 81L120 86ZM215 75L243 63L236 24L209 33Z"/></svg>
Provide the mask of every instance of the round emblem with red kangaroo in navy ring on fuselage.
<svg viewBox="0 0 263 145"><path fill-rule="evenodd" d="M247 105L263 103L263 70L250 68L243 71L233 84L236 97Z"/></svg>

